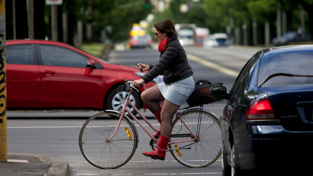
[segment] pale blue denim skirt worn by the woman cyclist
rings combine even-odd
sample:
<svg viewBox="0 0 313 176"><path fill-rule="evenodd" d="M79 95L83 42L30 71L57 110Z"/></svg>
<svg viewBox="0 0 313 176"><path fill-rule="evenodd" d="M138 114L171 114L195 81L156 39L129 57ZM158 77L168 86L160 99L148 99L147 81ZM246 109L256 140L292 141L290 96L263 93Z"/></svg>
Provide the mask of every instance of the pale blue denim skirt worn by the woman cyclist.
<svg viewBox="0 0 313 176"><path fill-rule="evenodd" d="M171 84L157 84L163 97L168 101L182 105L194 91L195 85L192 76Z"/></svg>

